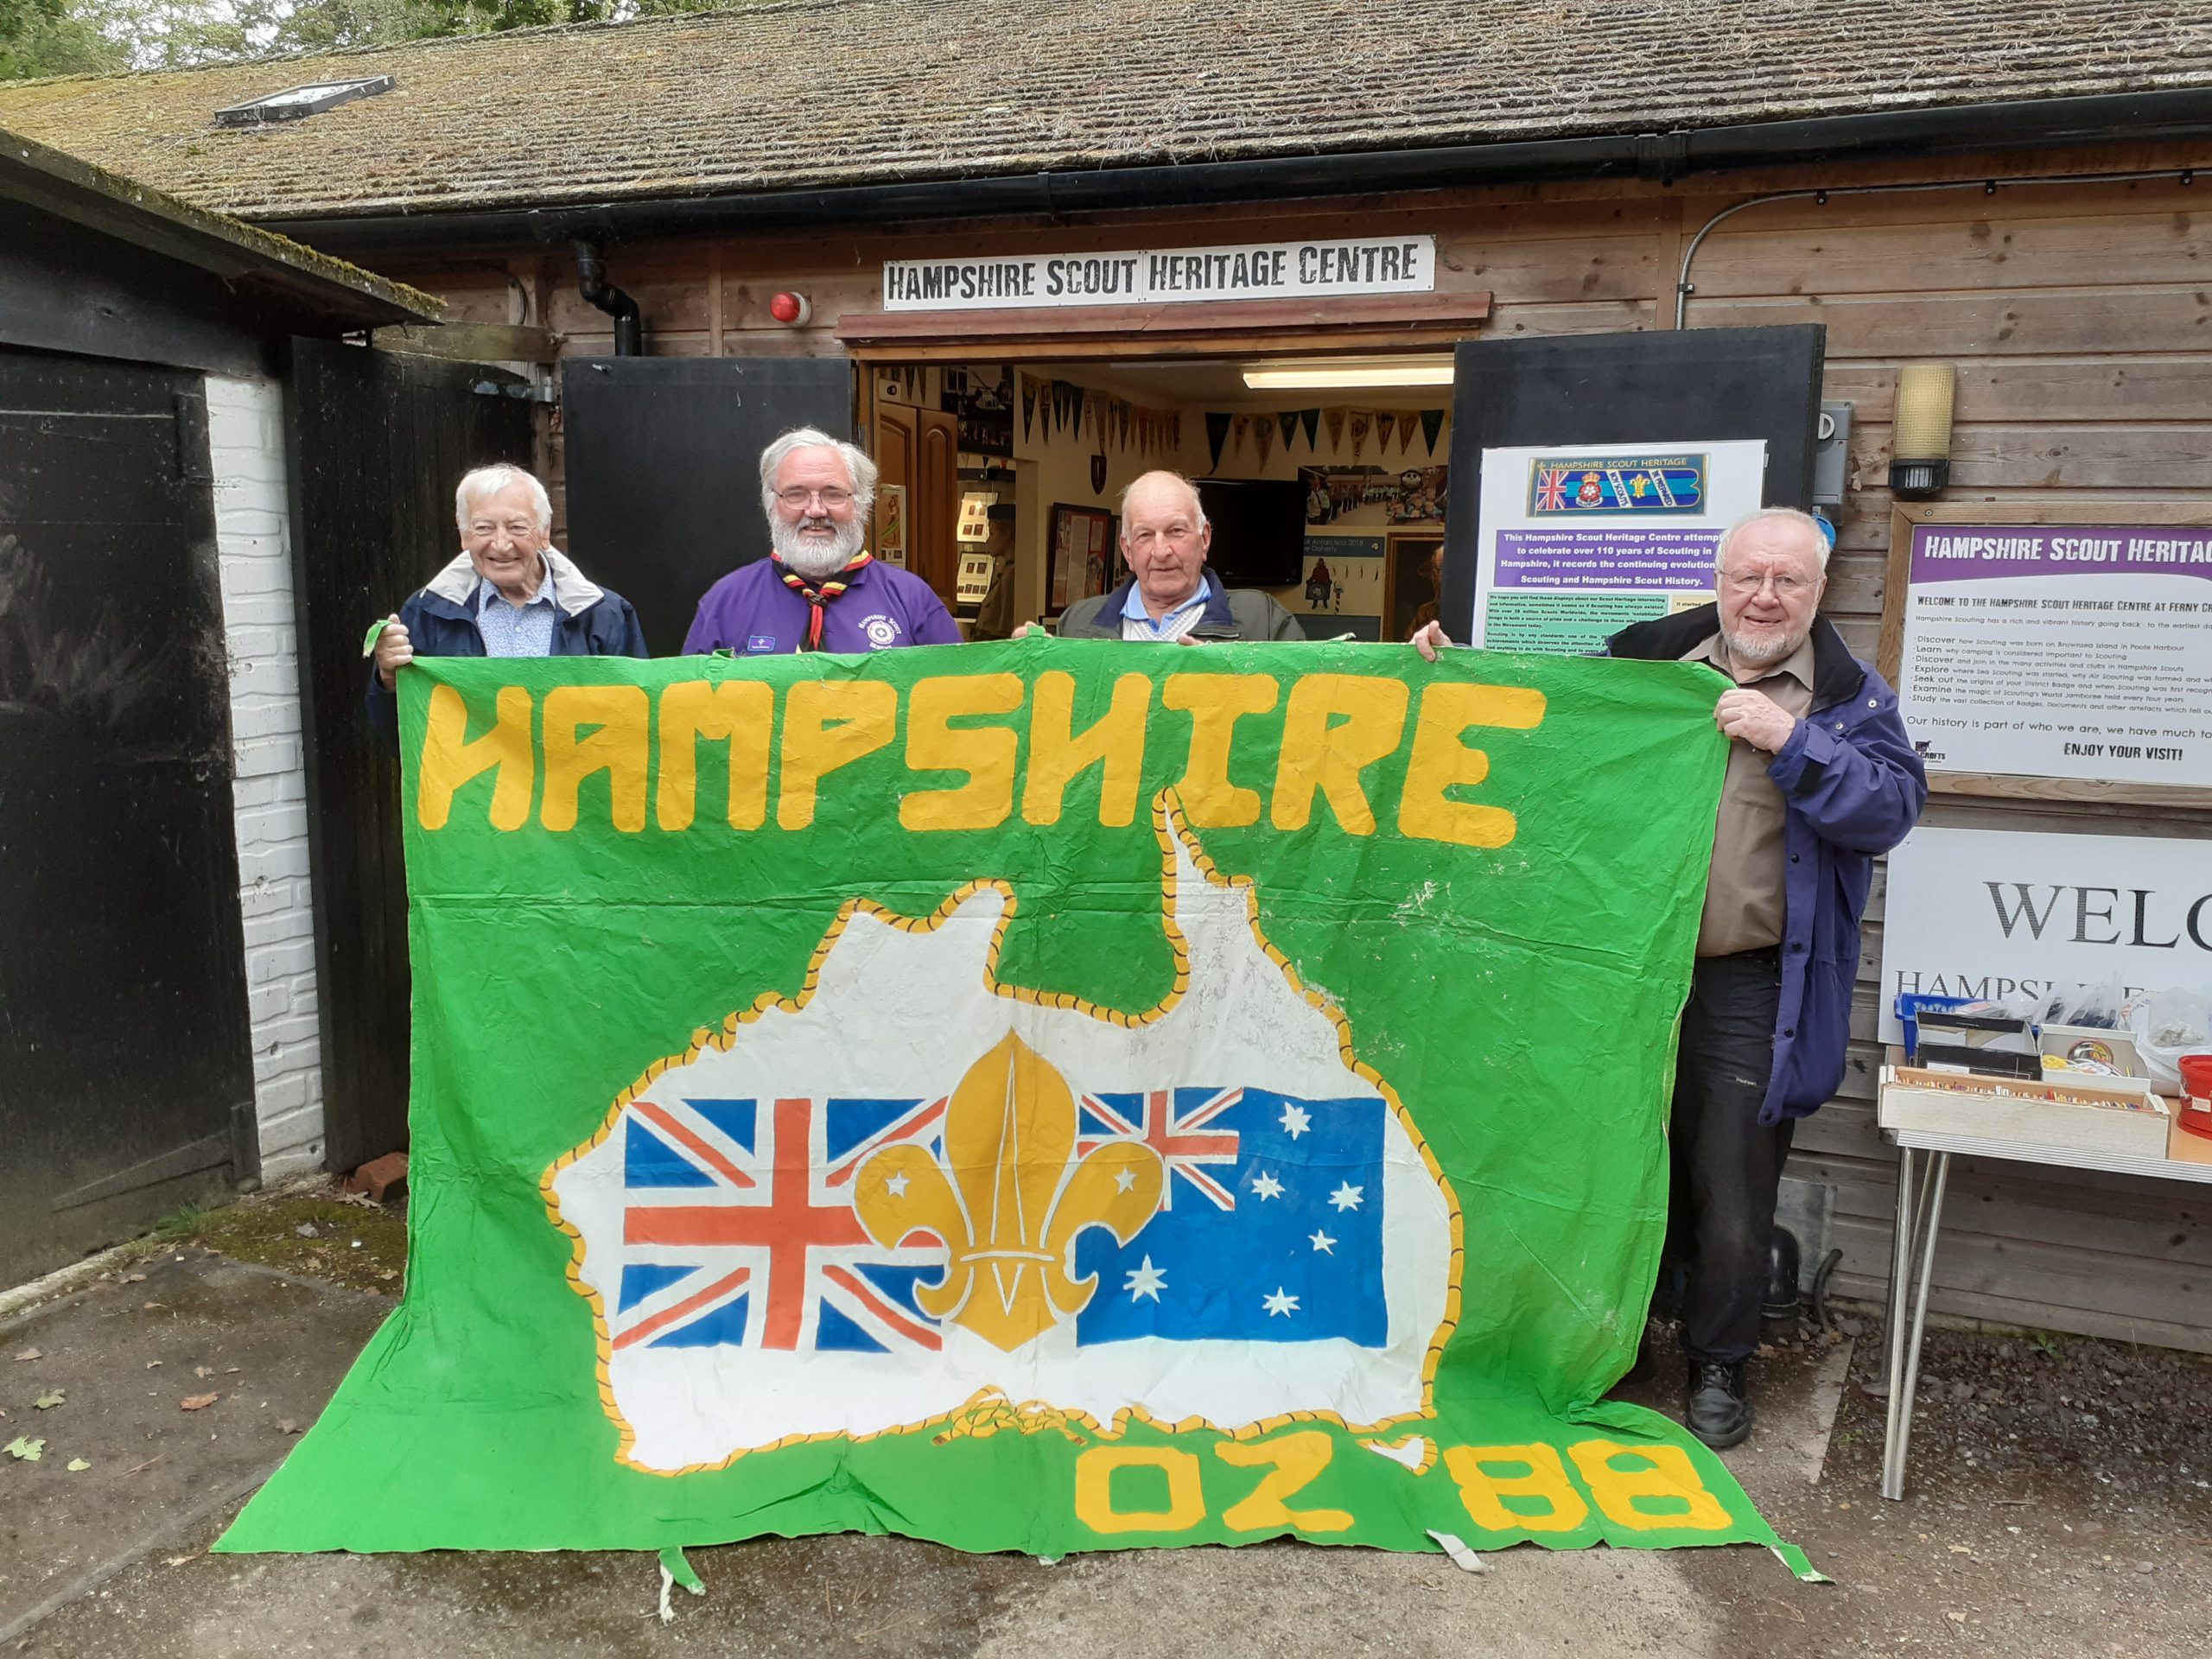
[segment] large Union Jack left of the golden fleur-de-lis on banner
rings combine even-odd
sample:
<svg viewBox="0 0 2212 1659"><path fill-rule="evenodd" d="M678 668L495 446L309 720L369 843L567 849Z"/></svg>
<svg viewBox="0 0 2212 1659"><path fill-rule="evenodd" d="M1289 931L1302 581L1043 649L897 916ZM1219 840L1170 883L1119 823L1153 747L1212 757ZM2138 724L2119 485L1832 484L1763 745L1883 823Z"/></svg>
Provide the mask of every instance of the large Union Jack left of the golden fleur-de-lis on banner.
<svg viewBox="0 0 2212 1659"><path fill-rule="evenodd" d="M942 1130L942 1097L630 1102L613 1345L936 1349L914 1290L945 1252L872 1241L852 1179L876 1148Z"/></svg>

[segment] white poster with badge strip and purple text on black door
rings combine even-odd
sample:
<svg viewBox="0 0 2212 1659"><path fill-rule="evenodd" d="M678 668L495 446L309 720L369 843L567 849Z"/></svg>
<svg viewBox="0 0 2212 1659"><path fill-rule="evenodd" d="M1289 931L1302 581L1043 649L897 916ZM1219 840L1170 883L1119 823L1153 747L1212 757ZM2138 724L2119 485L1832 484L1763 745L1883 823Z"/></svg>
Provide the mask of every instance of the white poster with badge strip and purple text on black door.
<svg viewBox="0 0 2212 1659"><path fill-rule="evenodd" d="M1473 641L1595 655L1712 597L1721 531L1759 507L1763 440L1482 451Z"/></svg>

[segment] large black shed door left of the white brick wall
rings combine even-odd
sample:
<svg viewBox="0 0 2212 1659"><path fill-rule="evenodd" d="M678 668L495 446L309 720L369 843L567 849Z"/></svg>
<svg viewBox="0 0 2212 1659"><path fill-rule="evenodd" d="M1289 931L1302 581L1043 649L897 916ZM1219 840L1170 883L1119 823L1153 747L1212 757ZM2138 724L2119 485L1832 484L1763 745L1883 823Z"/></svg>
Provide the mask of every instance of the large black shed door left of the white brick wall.
<svg viewBox="0 0 2212 1659"><path fill-rule="evenodd" d="M0 349L0 1285L252 1130L206 396Z"/></svg>

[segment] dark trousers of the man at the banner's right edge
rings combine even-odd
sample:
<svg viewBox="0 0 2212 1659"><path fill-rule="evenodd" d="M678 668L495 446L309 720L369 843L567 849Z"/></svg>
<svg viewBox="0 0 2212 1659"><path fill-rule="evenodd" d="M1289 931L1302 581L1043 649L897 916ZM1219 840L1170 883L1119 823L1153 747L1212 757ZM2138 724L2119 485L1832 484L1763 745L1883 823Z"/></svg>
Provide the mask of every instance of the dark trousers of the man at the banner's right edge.
<svg viewBox="0 0 2212 1659"><path fill-rule="evenodd" d="M1681 1345L1734 1365L1759 1347L1774 1192L1794 1124L1761 1128L1781 953L1699 958L1681 1011L1666 1259L1683 1272Z"/></svg>

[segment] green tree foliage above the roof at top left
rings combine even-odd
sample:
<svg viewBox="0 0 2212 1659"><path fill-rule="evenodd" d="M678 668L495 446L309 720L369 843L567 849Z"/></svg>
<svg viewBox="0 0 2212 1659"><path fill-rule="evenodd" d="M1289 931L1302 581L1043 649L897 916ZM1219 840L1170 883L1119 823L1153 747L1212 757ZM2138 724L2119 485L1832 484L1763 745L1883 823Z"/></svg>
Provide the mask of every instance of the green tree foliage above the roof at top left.
<svg viewBox="0 0 2212 1659"><path fill-rule="evenodd" d="M186 69L743 0L0 0L0 80Z"/></svg>

